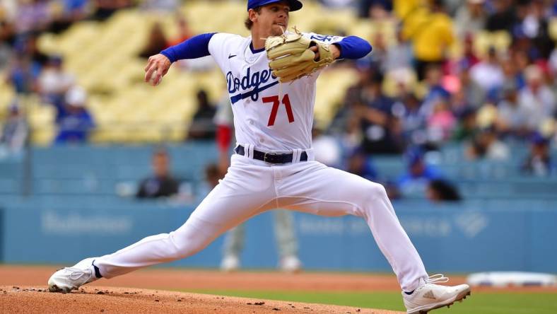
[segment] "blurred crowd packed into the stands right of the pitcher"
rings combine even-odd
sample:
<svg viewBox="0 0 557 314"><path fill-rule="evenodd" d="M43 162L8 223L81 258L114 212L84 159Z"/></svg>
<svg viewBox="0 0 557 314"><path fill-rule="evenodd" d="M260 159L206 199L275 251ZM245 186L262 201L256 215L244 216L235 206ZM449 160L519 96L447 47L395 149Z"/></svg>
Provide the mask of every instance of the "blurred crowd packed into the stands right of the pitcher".
<svg viewBox="0 0 557 314"><path fill-rule="evenodd" d="M323 2L345 6L355 1ZM509 144L519 143L529 146L519 171L557 173L551 158L557 3L395 0L358 5L360 16L397 26L394 40L380 32L371 38L374 51L356 62L358 83L348 89L332 123L330 131L343 137L349 170L380 181L369 157L401 155L407 172L392 185L385 182L390 196L421 191L435 201L460 199L425 158L449 143L464 146L469 161L500 162L511 161Z"/></svg>

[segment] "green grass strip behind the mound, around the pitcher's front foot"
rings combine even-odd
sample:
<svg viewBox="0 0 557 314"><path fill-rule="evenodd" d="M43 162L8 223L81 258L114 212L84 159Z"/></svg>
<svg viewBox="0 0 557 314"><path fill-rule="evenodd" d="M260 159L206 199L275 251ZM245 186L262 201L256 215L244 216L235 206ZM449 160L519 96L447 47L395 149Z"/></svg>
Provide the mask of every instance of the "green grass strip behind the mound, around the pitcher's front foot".
<svg viewBox="0 0 557 314"><path fill-rule="evenodd" d="M324 303L358 308L382 308L404 311L397 292L303 292L303 291L231 291L194 290L221 296L264 298L271 300ZM474 293L462 303L435 310L435 314L555 314L557 293Z"/></svg>

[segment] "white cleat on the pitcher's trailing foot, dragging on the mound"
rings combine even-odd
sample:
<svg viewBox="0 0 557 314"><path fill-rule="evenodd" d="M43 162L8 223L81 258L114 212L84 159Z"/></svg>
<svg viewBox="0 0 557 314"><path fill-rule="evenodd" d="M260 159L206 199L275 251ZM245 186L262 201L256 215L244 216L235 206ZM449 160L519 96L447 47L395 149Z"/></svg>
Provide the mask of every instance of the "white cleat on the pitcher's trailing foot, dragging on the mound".
<svg viewBox="0 0 557 314"><path fill-rule="evenodd" d="M94 257L86 258L72 267L59 269L48 279L48 290L50 292L69 293L84 284L95 281Z"/></svg>

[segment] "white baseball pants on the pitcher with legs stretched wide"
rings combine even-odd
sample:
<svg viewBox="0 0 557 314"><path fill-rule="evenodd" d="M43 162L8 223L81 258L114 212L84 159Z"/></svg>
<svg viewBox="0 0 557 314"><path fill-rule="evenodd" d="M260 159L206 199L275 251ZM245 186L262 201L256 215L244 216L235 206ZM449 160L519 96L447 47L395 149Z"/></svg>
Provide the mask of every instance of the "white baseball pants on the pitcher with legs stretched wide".
<svg viewBox="0 0 557 314"><path fill-rule="evenodd" d="M199 252L242 221L276 208L321 216L359 216L368 223L403 291L413 291L420 278L428 277L382 185L317 161L270 165L240 155L232 156L225 178L184 225L98 257L95 266L103 277L112 278L179 260Z"/></svg>

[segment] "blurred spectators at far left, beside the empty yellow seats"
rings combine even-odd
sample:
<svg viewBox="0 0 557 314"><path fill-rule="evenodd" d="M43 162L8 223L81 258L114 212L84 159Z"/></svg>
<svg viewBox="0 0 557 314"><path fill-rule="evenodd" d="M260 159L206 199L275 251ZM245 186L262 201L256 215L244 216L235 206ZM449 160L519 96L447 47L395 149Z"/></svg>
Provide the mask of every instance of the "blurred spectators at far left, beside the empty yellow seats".
<svg viewBox="0 0 557 314"><path fill-rule="evenodd" d="M42 33L61 33L72 23L104 21L129 0L3 0L0 4L0 73L18 97L8 106L1 143L10 151L25 145L29 133L22 99L37 95L56 110L55 143L83 142L95 127L86 107L86 91L64 69L64 58L37 46Z"/></svg>

